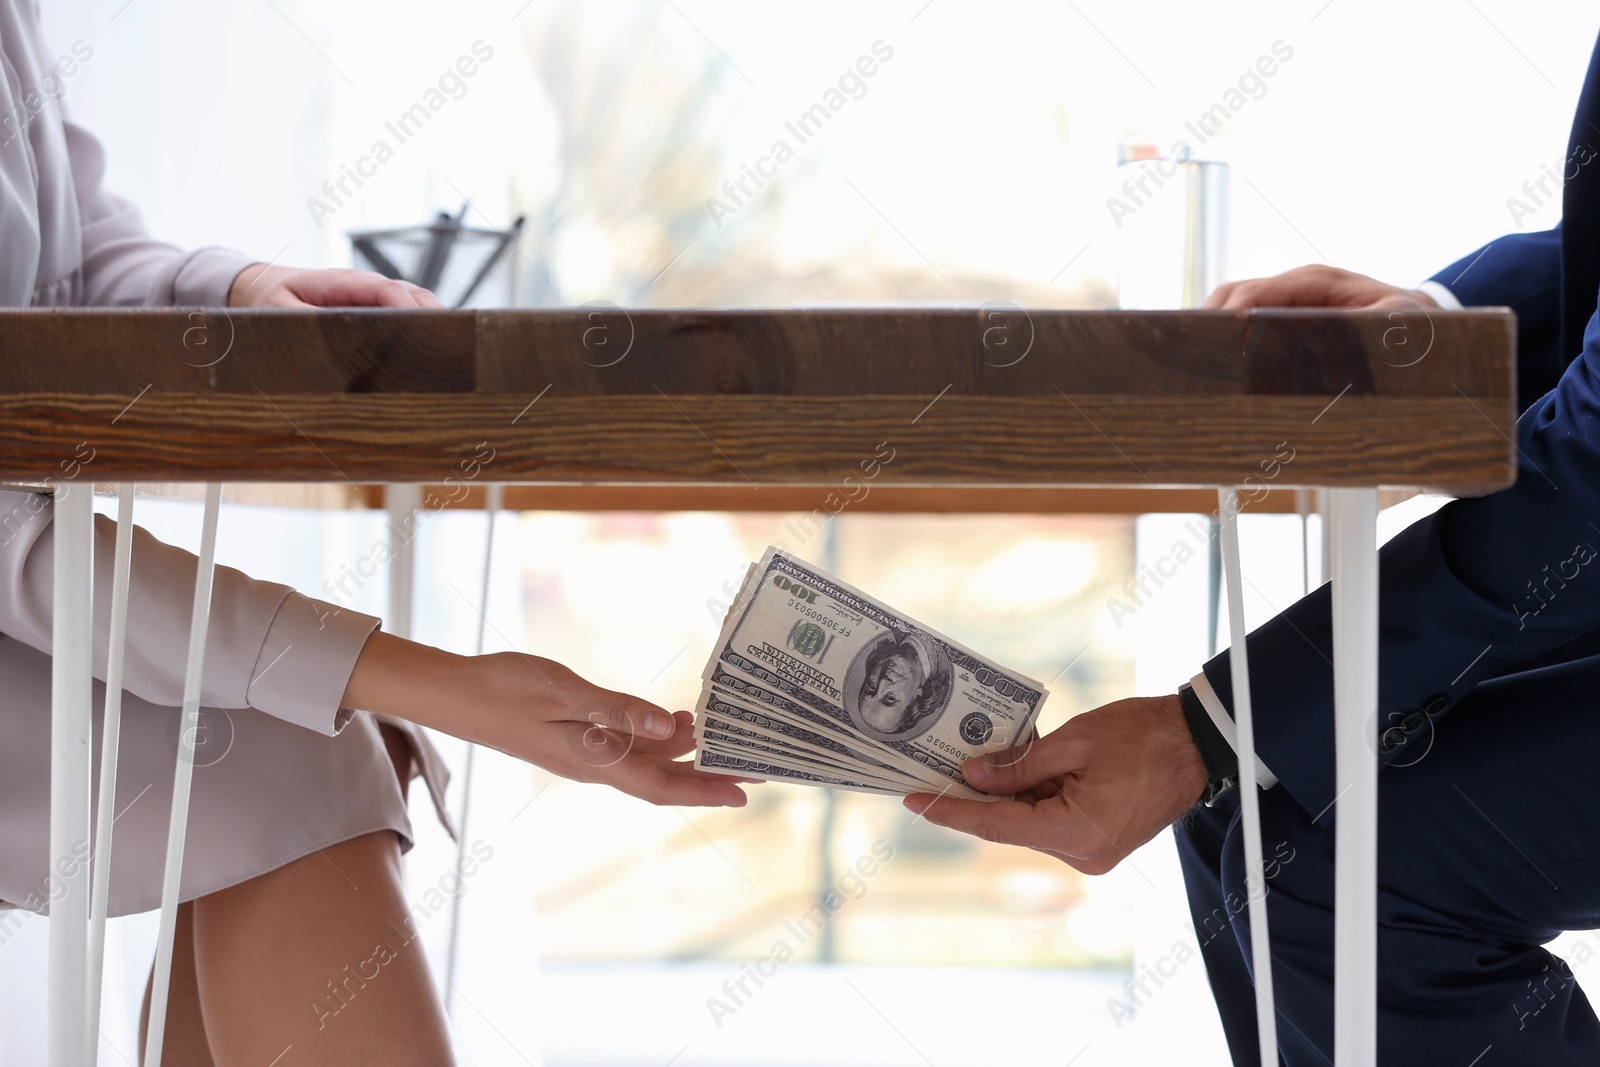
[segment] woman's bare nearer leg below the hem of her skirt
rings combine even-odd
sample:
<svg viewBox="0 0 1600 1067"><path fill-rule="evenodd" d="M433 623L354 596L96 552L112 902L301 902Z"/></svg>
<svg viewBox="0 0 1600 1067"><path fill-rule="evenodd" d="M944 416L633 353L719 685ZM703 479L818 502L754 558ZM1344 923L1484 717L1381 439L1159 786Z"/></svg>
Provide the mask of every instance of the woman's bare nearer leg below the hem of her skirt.
<svg viewBox="0 0 1600 1067"><path fill-rule="evenodd" d="M195 976L216 1062L453 1064L408 921L390 830L195 901Z"/></svg>

